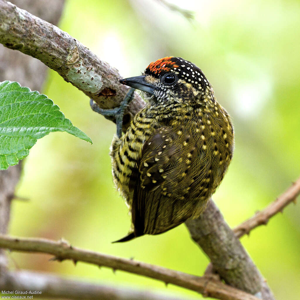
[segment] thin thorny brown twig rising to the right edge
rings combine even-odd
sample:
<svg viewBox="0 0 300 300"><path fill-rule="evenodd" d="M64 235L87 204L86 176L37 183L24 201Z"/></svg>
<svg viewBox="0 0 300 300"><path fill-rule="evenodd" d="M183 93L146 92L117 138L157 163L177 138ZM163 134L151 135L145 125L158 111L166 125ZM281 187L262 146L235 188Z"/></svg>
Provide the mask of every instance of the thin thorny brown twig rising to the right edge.
<svg viewBox="0 0 300 300"><path fill-rule="evenodd" d="M268 205L262 211L257 212L253 217L244 221L233 229L235 235L240 238L244 234L249 234L250 231L259 225L266 225L271 217L278 212L282 212L289 203L295 202L300 194L300 177L281 194L274 202Z"/></svg>

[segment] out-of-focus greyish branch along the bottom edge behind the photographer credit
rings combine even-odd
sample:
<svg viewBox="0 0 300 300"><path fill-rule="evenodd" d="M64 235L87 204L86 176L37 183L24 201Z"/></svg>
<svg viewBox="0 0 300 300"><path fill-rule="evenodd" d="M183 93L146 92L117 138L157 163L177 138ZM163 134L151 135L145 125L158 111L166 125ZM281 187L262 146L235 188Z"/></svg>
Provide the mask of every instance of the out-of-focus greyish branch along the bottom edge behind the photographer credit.
<svg viewBox="0 0 300 300"><path fill-rule="evenodd" d="M38 291L34 298L66 298L78 300L183 300L151 291L133 290L107 285L85 283L53 274L15 271L5 274L1 290ZM188 300L184 298L185 300Z"/></svg>

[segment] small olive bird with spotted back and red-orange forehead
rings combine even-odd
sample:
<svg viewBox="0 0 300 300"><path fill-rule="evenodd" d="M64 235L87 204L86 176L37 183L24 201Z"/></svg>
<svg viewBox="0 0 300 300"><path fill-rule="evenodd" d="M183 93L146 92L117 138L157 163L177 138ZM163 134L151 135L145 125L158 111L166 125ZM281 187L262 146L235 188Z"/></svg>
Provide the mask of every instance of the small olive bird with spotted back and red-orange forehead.
<svg viewBox="0 0 300 300"><path fill-rule="evenodd" d="M141 76L121 79L142 91L146 106L113 138L113 181L131 213L128 235L166 232L199 217L222 181L234 130L204 73L181 57L151 62Z"/></svg>

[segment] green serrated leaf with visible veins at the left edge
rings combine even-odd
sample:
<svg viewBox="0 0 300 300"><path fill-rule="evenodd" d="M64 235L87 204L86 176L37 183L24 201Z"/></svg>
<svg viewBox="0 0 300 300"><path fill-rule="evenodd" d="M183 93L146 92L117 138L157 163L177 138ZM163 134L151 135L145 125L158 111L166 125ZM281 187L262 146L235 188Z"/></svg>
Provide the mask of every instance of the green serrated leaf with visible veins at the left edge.
<svg viewBox="0 0 300 300"><path fill-rule="evenodd" d="M47 96L18 82L0 82L0 170L25 158L37 139L52 131L66 131L92 143Z"/></svg>

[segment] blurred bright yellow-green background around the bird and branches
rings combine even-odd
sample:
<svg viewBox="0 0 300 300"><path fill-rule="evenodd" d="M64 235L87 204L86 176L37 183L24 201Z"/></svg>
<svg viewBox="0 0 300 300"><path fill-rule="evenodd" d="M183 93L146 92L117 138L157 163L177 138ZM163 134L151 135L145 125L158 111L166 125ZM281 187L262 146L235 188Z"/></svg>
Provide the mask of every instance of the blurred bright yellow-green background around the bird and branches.
<svg viewBox="0 0 300 300"><path fill-rule="evenodd" d="M214 194L230 226L252 216L300 175L300 2L172 1L195 11L190 23L155 0L66 1L59 27L124 77L165 56L198 65L235 125L235 154ZM93 145L66 133L38 140L26 158L13 201L10 234L65 238L72 245L202 275L208 259L185 225L158 236L111 244L130 225L113 187L112 122L89 99L49 70L43 91ZM300 295L300 205L289 205L241 238L277 299ZM11 253L17 268L53 271L93 282L201 295L137 275L50 256Z"/></svg>

